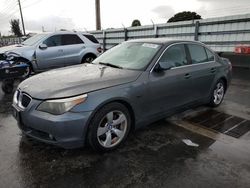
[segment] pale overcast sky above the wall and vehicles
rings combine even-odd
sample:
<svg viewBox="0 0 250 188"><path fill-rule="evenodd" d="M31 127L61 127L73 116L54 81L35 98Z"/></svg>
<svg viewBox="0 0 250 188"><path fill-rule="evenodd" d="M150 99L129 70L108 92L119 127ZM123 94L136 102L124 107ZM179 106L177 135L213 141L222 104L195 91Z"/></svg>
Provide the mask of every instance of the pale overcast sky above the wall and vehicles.
<svg viewBox="0 0 250 188"><path fill-rule="evenodd" d="M60 29L95 30L95 0L20 0L26 33ZM166 23L181 11L202 18L250 13L250 0L100 0L102 29ZM9 35L11 19L20 19L17 0L0 0L0 32ZM21 27L21 25L20 25Z"/></svg>

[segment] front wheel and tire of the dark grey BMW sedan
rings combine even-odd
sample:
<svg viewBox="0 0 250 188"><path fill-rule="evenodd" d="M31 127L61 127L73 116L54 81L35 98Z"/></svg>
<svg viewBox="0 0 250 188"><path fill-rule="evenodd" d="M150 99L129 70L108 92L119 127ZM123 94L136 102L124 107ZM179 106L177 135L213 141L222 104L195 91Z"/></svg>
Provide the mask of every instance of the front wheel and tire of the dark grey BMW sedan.
<svg viewBox="0 0 250 188"><path fill-rule="evenodd" d="M131 127L128 109L109 103L96 112L89 124L88 143L98 152L116 149L126 140Z"/></svg>

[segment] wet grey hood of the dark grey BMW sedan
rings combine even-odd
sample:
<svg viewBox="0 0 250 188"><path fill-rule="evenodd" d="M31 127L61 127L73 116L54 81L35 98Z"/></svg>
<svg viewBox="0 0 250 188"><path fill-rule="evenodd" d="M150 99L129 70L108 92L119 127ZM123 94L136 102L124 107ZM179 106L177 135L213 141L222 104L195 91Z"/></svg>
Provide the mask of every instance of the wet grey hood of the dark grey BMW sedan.
<svg viewBox="0 0 250 188"><path fill-rule="evenodd" d="M19 89L40 100L65 98L129 83L140 74L141 71L84 64L38 74L23 81Z"/></svg>

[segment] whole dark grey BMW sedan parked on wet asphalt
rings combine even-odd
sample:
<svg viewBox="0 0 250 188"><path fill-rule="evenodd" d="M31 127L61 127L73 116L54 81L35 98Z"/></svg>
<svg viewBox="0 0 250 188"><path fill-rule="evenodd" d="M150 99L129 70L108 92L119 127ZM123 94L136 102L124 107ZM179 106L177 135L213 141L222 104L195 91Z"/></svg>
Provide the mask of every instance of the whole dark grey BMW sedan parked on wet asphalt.
<svg viewBox="0 0 250 188"><path fill-rule="evenodd" d="M13 98L22 132L64 148L120 146L129 132L192 106L221 104L231 63L200 42L140 39L93 63L23 81Z"/></svg>

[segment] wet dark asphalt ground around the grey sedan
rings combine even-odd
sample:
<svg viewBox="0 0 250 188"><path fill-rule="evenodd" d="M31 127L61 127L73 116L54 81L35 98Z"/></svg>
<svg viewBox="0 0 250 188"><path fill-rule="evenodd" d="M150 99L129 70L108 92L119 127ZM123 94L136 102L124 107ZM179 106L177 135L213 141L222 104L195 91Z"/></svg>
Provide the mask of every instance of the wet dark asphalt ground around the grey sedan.
<svg viewBox="0 0 250 188"><path fill-rule="evenodd" d="M202 106L155 122L105 154L22 136L11 115L12 95L0 91L0 187L250 187L244 124L250 120L250 70L233 73L219 108ZM244 126L232 121L237 118ZM227 134L233 130L241 135Z"/></svg>

